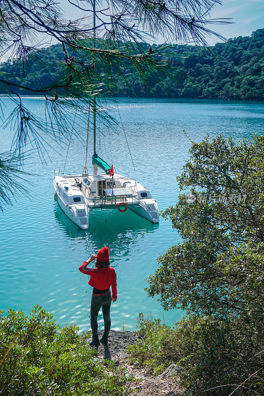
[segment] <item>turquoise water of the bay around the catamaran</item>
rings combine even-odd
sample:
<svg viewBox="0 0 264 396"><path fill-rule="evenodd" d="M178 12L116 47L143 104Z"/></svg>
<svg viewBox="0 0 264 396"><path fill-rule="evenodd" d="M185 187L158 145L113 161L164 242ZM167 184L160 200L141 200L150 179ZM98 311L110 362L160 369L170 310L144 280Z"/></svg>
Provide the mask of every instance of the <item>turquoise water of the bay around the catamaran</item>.
<svg viewBox="0 0 264 396"><path fill-rule="evenodd" d="M43 99L24 100L33 111L43 113ZM11 103L4 101L7 114ZM198 142L207 133L235 139L263 133L263 102L122 99L118 107L138 180L150 189L159 209L177 200L176 175L190 147L183 129ZM122 129L109 132L99 127L103 157L117 172L136 176ZM84 165L85 125L79 133L80 139L70 145L65 173L79 173ZM0 129L1 152L10 147L11 140L12 133ZM0 214L0 308L28 312L38 303L52 311L59 324L76 323L88 330L91 288L78 267L107 245L118 288L118 299L111 306L112 328L124 324L128 330L135 329L139 312L175 323L181 311L164 313L157 298L147 297L144 291L146 278L158 266L158 255L180 241L170 222L161 218L159 225L153 225L130 210L95 210L89 230L79 229L53 199L53 169L63 168L67 147L55 149L48 148L51 160L47 164L31 154L25 166L35 174L27 177L32 183L31 197L19 198ZM91 162L89 166L92 170Z"/></svg>

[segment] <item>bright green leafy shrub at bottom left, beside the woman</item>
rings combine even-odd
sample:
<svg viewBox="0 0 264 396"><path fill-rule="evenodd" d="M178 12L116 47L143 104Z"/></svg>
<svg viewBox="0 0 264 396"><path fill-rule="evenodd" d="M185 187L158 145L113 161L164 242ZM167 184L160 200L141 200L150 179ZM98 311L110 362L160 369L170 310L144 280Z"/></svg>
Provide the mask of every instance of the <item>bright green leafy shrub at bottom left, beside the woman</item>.
<svg viewBox="0 0 264 396"><path fill-rule="evenodd" d="M93 356L77 326L56 325L41 306L29 316L0 311L0 395L121 396L128 381Z"/></svg>

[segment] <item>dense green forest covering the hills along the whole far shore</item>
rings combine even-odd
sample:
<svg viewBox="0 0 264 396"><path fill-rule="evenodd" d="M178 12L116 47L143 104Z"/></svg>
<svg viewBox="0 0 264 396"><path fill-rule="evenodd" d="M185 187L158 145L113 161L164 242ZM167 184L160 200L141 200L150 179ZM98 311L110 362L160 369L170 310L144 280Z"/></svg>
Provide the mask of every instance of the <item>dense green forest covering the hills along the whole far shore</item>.
<svg viewBox="0 0 264 396"><path fill-rule="evenodd" d="M149 44L142 43L146 48ZM153 49L156 49L153 45ZM63 61L60 44L42 49L51 60ZM264 99L264 29L250 37L237 37L217 43L210 50L190 45L172 45L162 51L160 59L171 65L171 76L150 76L145 87L133 73L123 69L124 79L118 77L111 95L121 97L204 98L204 99ZM51 84L56 70L43 64L42 70L30 60L28 72L22 78L13 63L1 65L0 73L12 74L14 81L23 80L24 86ZM41 78L37 77L40 73ZM0 87L1 93L4 93ZM14 88L15 92L15 88ZM24 93L24 92L23 92ZM30 93L32 95L32 92Z"/></svg>

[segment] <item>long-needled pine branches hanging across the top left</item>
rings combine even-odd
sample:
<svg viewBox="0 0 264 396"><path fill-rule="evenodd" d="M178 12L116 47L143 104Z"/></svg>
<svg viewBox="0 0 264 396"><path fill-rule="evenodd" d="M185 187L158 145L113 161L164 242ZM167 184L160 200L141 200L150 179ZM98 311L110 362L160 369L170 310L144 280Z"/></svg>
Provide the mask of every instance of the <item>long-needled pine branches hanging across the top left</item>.
<svg viewBox="0 0 264 396"><path fill-rule="evenodd" d="M110 122L109 115L101 110L106 93L114 85L113 75L123 78L123 67L131 69L145 85L150 71L157 76L169 72L170 66L157 56L163 46L147 50L141 46L146 36L205 45L206 36L216 34L208 26L226 22L210 19L209 11L218 3L108 0L102 8L97 1L68 0L73 11L78 9L82 15L71 20L65 16L63 3L54 0L1 0L0 61L6 60L8 54L9 67L8 73L0 71L0 91L14 103L12 113L3 122L15 131L10 156L18 159L17 166L23 162L24 148L29 143L45 159L47 136L55 142L69 138L72 113L77 111L77 118L83 117L95 96L99 115ZM40 50L52 41L62 45L63 60L47 58L46 52ZM44 64L56 70L48 84L41 75ZM35 74L34 87L27 85L30 72ZM22 78L16 79L21 74ZM25 107L22 95L29 92L45 99L44 121ZM11 185L0 190L0 200L5 194L13 195Z"/></svg>

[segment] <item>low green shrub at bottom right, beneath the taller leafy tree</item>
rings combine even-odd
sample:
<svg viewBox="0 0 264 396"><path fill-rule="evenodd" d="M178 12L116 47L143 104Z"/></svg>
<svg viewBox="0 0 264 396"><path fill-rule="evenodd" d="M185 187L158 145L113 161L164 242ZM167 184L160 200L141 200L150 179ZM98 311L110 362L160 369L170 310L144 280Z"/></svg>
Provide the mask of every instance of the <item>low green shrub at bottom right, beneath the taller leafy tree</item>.
<svg viewBox="0 0 264 396"><path fill-rule="evenodd" d="M138 324L145 338L129 347L131 357L154 372L182 366L186 395L228 396L236 388L233 395L263 395L261 331L252 332L250 324L190 316L169 327L142 314Z"/></svg>

